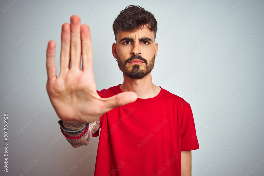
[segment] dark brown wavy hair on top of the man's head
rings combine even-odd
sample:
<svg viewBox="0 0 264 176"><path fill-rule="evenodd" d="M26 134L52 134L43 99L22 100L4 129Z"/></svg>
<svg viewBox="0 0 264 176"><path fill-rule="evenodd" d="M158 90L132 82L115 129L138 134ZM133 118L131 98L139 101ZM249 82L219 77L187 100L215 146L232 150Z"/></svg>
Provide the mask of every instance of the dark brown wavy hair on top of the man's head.
<svg viewBox="0 0 264 176"><path fill-rule="evenodd" d="M154 40L158 30L158 23L154 15L140 6L130 5L122 10L113 23L115 40L119 31L134 32L142 29L144 25L149 25L150 31L154 32Z"/></svg>

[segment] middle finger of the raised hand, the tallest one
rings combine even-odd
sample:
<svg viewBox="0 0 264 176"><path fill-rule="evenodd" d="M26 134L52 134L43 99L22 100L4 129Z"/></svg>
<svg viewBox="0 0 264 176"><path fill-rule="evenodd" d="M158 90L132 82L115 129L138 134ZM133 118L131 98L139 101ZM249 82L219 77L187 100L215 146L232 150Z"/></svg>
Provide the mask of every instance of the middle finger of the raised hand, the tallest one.
<svg viewBox="0 0 264 176"><path fill-rule="evenodd" d="M71 68L80 69L81 64L81 19L77 15L73 15L70 18L70 60Z"/></svg>

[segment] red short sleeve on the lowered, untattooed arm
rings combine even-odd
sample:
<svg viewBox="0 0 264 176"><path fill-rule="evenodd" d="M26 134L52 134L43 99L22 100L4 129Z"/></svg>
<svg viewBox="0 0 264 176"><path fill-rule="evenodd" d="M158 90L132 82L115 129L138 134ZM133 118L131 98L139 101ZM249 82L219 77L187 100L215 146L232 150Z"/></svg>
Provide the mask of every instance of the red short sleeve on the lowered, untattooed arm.
<svg viewBox="0 0 264 176"><path fill-rule="evenodd" d="M181 150L196 150L199 149L199 143L196 136L194 117L190 104L186 103L182 108L182 116L180 119L181 131Z"/></svg>

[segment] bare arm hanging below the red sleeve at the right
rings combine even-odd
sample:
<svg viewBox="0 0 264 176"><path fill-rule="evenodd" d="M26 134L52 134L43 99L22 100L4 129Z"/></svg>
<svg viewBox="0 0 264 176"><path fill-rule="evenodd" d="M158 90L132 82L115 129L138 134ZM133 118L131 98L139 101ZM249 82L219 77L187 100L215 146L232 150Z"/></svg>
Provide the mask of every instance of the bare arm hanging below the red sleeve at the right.
<svg viewBox="0 0 264 176"><path fill-rule="evenodd" d="M192 175L192 151L182 151L181 154L181 176Z"/></svg>

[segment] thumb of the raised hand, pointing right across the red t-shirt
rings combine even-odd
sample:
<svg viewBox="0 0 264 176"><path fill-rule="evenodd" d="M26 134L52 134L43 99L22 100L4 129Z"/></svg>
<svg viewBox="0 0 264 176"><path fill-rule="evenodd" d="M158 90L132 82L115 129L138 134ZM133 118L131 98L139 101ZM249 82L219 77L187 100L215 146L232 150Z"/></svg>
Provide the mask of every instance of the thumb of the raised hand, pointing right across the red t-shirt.
<svg viewBox="0 0 264 176"><path fill-rule="evenodd" d="M136 101L136 99L137 99L137 94L135 92L130 92L130 91L122 92L110 98L106 98L105 106L106 108L109 108L111 110L114 109L115 107L124 106L128 103L132 103Z"/></svg>

